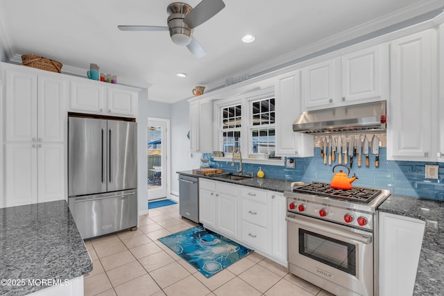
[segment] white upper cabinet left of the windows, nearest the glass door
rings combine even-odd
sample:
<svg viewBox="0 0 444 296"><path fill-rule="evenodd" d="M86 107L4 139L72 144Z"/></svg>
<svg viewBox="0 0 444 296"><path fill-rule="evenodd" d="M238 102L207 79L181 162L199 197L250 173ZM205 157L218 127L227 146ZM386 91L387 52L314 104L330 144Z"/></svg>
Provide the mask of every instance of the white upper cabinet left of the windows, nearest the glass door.
<svg viewBox="0 0 444 296"><path fill-rule="evenodd" d="M213 103L193 101L189 103L190 152L213 152Z"/></svg>

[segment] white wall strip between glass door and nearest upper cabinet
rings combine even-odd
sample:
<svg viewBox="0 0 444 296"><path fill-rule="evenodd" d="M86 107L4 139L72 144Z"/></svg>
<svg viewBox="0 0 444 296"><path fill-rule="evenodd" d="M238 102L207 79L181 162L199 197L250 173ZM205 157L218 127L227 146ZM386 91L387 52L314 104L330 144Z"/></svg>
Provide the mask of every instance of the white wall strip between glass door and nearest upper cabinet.
<svg viewBox="0 0 444 296"><path fill-rule="evenodd" d="M200 153L189 155L189 103L187 100L171 105L171 193L178 195L178 171L200 166Z"/></svg>

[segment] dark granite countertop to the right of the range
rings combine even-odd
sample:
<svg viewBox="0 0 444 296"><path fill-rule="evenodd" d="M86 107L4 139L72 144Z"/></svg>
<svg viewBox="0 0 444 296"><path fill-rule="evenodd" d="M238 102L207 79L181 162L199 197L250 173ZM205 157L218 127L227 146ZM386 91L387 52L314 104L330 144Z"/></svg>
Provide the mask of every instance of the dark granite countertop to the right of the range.
<svg viewBox="0 0 444 296"><path fill-rule="evenodd" d="M425 232L413 295L443 295L444 202L390 195L379 211L425 221Z"/></svg>

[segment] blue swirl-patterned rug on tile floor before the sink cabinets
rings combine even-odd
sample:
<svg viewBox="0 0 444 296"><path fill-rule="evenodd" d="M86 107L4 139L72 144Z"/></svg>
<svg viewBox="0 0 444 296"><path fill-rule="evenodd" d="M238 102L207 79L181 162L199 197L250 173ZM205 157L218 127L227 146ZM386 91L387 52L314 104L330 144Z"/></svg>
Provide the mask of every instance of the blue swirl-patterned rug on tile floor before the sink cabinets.
<svg viewBox="0 0 444 296"><path fill-rule="evenodd" d="M234 243L202 226L159 238L164 245L191 264L205 277L232 265L253 250Z"/></svg>

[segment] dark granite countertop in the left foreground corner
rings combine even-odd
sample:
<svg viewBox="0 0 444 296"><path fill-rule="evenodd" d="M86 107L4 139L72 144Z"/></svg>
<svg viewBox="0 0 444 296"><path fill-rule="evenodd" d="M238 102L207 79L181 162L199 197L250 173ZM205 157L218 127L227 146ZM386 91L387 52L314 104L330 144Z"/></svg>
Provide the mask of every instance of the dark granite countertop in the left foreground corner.
<svg viewBox="0 0 444 296"><path fill-rule="evenodd" d="M0 252L0 295L27 295L50 286L40 280L64 283L92 270L65 200L0 209Z"/></svg>

